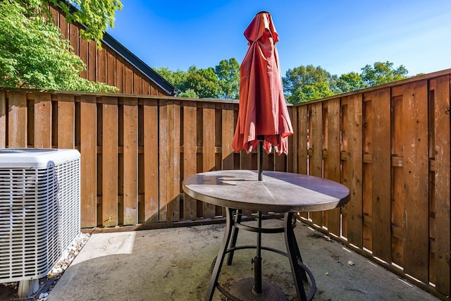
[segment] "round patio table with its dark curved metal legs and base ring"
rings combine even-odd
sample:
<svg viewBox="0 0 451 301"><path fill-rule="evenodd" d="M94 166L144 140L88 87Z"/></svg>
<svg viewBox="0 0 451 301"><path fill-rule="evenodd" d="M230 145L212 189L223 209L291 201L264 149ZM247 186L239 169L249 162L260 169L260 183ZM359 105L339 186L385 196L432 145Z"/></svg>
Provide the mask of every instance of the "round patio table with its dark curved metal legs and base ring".
<svg viewBox="0 0 451 301"><path fill-rule="evenodd" d="M183 190L195 199L226 207L226 233L218 256L212 264L205 300L213 298L216 288L230 300L286 300L285 293L278 285L261 279L261 250L277 252L288 257L298 300L313 298L316 284L311 271L302 262L293 231L295 226L293 214L341 207L350 199L350 190L345 185L314 176L280 171L264 171L261 180L257 180L257 171L230 170L209 171L189 176L183 181ZM241 223L242 210L257 211L257 227ZM263 228L262 211L285 214L283 227ZM237 247L235 243L239 229L256 232L257 245ZM284 233L287 252L261 246L261 233ZM257 256L252 260L254 279L245 278L237 281L230 291L227 291L218 283L223 261L228 254L228 264L232 264L233 253L245 248L257 250ZM307 274L311 280L309 296L306 296L302 283L307 281Z"/></svg>

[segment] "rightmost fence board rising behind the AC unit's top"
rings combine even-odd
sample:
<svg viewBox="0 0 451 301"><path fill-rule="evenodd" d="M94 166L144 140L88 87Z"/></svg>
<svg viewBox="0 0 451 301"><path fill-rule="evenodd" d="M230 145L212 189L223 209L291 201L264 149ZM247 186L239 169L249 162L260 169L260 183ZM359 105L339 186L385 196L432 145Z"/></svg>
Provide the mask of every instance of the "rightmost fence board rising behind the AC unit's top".
<svg viewBox="0 0 451 301"><path fill-rule="evenodd" d="M75 147L75 97L58 95L58 148Z"/></svg>

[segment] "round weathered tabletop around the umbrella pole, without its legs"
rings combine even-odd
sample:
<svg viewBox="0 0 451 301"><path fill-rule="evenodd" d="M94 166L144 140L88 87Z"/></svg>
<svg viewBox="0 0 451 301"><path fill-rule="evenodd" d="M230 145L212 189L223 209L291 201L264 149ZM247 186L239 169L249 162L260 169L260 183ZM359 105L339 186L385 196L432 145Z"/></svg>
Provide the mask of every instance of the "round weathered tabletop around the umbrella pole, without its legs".
<svg viewBox="0 0 451 301"><path fill-rule="evenodd" d="M350 190L340 183L281 171L230 170L197 173L183 181L183 190L210 204L254 211L302 212L341 207Z"/></svg>

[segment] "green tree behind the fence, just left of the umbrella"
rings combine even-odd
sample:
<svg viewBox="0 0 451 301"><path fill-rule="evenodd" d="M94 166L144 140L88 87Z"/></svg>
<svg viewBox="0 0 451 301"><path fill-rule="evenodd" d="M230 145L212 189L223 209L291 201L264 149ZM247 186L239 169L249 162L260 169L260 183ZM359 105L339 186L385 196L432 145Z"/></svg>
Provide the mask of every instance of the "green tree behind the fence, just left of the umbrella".
<svg viewBox="0 0 451 301"><path fill-rule="evenodd" d="M222 93L220 98L238 99L240 96L240 64L235 58L222 60L215 67L218 84Z"/></svg>

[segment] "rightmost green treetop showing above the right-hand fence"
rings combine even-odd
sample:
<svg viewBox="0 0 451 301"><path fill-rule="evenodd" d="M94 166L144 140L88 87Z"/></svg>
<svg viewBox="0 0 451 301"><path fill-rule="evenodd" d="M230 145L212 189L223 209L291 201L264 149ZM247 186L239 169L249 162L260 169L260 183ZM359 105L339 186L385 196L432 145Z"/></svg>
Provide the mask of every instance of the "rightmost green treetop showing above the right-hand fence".
<svg viewBox="0 0 451 301"><path fill-rule="evenodd" d="M362 79L367 87L383 85L388 82L395 82L407 78L409 71L404 66L393 68L393 63L386 61L385 63L376 62L366 65L362 68Z"/></svg>

